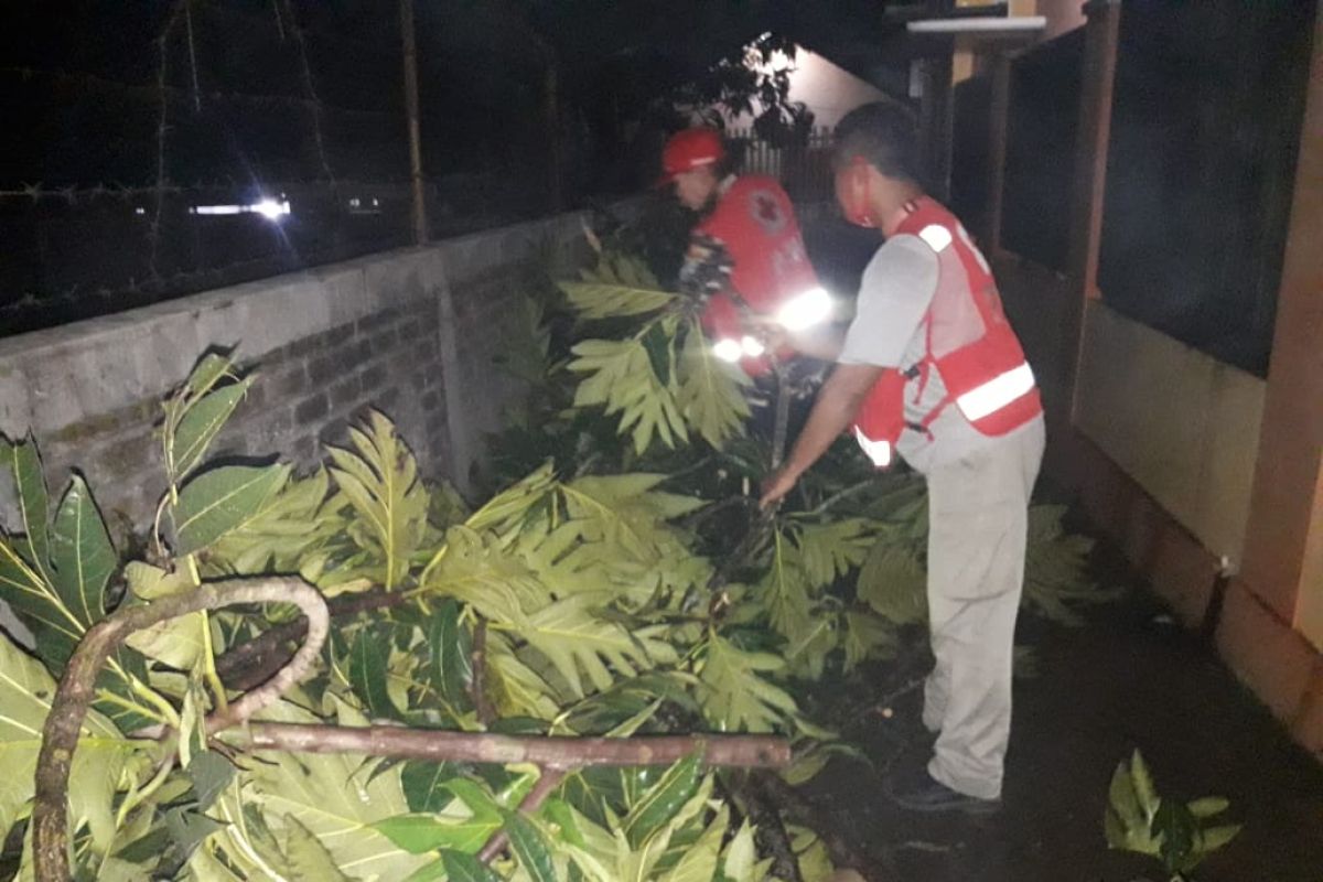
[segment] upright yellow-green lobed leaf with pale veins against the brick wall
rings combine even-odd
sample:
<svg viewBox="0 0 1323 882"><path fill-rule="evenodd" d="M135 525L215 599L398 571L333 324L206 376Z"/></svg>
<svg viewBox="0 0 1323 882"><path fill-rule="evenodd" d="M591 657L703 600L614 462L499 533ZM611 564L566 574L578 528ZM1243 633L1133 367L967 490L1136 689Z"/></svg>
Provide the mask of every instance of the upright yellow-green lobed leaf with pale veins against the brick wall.
<svg viewBox="0 0 1323 882"><path fill-rule="evenodd" d="M413 452L381 413L372 411L366 431L351 428L349 438L357 452L329 448L331 475L360 518L349 534L372 558L368 573L389 591L404 582L427 536L427 488Z"/></svg>

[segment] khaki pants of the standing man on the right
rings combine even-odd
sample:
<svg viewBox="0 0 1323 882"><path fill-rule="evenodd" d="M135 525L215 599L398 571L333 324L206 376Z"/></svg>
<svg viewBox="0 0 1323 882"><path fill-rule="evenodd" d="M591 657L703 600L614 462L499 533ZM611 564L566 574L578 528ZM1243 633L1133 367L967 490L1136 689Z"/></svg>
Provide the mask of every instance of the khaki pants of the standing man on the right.
<svg viewBox="0 0 1323 882"><path fill-rule="evenodd" d="M927 604L937 665L923 689L923 725L941 733L927 770L980 799L1002 796L1015 618L1043 446L1040 419L927 475Z"/></svg>

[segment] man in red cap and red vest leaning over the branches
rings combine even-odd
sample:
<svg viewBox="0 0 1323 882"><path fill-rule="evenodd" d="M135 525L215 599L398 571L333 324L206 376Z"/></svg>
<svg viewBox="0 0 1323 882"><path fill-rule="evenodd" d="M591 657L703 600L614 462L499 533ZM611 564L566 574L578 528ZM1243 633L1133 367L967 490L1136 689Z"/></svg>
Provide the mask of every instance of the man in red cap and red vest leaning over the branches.
<svg viewBox="0 0 1323 882"><path fill-rule="evenodd" d="M781 341L789 335L802 349L803 335L826 325L832 312L790 197L775 179L734 175L713 128L673 135L662 164L676 198L701 216L680 270L680 288L701 309L713 352L740 362L750 377L766 378L773 357L795 354Z"/></svg>

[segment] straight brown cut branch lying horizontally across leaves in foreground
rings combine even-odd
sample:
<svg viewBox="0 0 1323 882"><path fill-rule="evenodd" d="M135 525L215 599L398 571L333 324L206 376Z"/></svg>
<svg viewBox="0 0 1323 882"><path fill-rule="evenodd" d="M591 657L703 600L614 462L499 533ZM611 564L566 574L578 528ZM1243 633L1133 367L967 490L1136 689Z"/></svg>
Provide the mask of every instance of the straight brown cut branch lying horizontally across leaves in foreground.
<svg viewBox="0 0 1323 882"><path fill-rule="evenodd" d="M693 754L700 754L708 766L729 768L782 768L790 764L790 742L773 735L553 738L402 726L251 722L226 733L224 739L245 750L366 754L438 763L536 763L544 770L561 771L583 766L669 766Z"/></svg>

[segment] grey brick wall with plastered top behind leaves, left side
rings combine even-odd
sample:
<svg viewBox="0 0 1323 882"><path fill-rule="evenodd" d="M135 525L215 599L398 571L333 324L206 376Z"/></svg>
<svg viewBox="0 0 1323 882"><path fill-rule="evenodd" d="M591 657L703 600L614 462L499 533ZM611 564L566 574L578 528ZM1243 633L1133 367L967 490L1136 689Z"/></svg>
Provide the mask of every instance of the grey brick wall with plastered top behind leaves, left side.
<svg viewBox="0 0 1323 882"><path fill-rule="evenodd" d="M161 398L205 350L233 349L259 378L213 455L307 467L370 406L463 489L519 394L492 364L519 298L581 241L562 216L0 340L0 431L36 435L53 493L78 468L122 533L164 491ZM0 502L12 513L12 488Z"/></svg>

